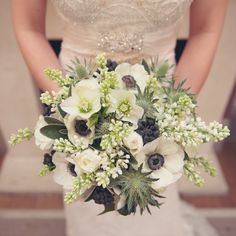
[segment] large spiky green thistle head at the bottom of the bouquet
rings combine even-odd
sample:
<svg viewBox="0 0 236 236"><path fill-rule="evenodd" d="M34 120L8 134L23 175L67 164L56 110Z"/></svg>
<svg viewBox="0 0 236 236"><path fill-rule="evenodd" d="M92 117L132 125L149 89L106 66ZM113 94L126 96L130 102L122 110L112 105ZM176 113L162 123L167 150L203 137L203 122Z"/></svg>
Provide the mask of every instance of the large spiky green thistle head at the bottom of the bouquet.
<svg viewBox="0 0 236 236"><path fill-rule="evenodd" d="M156 198L162 197L152 188L152 183L158 180L150 177L151 172L143 173L142 169L142 165L137 170L130 166L129 170L124 171L123 175L112 183L114 186L119 186L121 195L126 197L125 206L118 209L120 214L135 214L137 207L140 208L141 214L145 209L151 214L150 205L158 208L161 205Z"/></svg>

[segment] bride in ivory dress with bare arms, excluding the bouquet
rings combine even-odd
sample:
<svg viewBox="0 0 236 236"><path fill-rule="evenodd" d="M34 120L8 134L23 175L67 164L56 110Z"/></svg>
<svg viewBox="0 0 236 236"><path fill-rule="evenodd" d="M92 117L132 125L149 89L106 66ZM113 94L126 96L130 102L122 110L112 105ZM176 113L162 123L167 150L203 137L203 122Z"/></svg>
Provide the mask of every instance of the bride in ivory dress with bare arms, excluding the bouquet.
<svg viewBox="0 0 236 236"><path fill-rule="evenodd" d="M191 7L190 37L175 73L179 81L188 78L187 86L198 93L212 64L227 5L226 0L52 0L66 23L58 60L45 36L46 2L12 0L12 12L25 61L38 86L49 91L58 88L43 69L65 69L74 57L91 59L105 52L118 62L158 56L175 64L178 29ZM78 201L66 206L68 235L192 235L185 231L176 186L165 196L168 201L160 210L142 217L96 216L99 206Z"/></svg>

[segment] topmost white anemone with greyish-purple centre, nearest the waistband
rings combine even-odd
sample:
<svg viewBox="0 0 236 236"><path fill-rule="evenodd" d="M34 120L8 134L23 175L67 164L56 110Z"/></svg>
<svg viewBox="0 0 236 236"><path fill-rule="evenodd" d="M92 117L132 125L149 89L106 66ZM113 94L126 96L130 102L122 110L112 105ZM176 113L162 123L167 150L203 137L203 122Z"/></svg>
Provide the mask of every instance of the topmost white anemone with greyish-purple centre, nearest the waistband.
<svg viewBox="0 0 236 236"><path fill-rule="evenodd" d="M121 88L135 89L137 84L141 91L144 91L149 75L142 65L122 63L116 67L115 72Z"/></svg>

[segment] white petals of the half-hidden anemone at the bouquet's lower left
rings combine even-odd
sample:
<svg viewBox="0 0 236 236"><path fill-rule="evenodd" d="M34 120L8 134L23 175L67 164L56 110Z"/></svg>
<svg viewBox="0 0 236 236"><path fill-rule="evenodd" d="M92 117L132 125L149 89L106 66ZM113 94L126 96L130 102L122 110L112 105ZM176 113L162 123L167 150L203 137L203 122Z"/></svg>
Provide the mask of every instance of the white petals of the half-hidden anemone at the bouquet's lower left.
<svg viewBox="0 0 236 236"><path fill-rule="evenodd" d="M56 169L53 171L54 181L62 185L64 189L71 190L73 188L73 175L69 170L69 161L66 159L66 154L56 152L53 155L53 163Z"/></svg>

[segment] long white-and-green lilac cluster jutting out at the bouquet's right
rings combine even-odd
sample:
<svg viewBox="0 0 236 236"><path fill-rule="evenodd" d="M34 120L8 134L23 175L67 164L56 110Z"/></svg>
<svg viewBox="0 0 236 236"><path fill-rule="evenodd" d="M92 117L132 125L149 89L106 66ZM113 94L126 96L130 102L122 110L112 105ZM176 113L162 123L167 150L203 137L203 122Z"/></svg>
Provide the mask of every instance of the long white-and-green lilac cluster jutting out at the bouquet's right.
<svg viewBox="0 0 236 236"><path fill-rule="evenodd" d="M160 103L158 104L160 105ZM177 102L161 104L162 117L158 121L160 132L166 138L173 138L182 146L220 141L229 135L229 129L218 122L207 125L200 117L195 118L193 104L187 95Z"/></svg>

